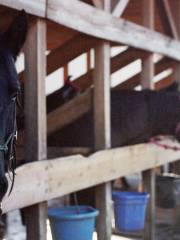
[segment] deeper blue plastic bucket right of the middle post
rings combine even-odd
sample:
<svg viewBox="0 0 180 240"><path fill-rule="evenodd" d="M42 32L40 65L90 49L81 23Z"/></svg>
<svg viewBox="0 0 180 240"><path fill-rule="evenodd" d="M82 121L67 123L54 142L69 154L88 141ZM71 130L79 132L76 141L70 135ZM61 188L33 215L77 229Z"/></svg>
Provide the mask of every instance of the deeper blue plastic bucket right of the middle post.
<svg viewBox="0 0 180 240"><path fill-rule="evenodd" d="M144 229L149 195L138 192L113 192L115 227L119 231Z"/></svg>

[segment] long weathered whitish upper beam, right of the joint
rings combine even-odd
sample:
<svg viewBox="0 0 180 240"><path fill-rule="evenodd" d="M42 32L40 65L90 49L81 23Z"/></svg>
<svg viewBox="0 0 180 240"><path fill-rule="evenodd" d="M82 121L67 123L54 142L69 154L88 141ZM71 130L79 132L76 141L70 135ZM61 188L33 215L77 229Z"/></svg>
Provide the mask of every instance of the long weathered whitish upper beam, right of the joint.
<svg viewBox="0 0 180 240"><path fill-rule="evenodd" d="M180 43L158 32L112 17L111 14L81 1L51 0L48 3L47 16L52 21L104 40L124 43L180 60Z"/></svg>

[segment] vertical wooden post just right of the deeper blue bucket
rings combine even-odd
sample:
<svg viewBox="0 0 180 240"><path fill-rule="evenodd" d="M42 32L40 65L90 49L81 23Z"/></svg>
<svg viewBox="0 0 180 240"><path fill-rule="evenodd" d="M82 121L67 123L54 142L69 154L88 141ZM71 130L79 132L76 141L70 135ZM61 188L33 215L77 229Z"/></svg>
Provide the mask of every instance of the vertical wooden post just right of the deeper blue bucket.
<svg viewBox="0 0 180 240"><path fill-rule="evenodd" d="M143 0L142 21L145 27L154 28L154 0ZM154 63L153 54L147 54L142 62L141 83L143 88L154 88ZM147 218L144 231L144 239L155 240L155 170L143 172L144 190L150 194L147 207Z"/></svg>

